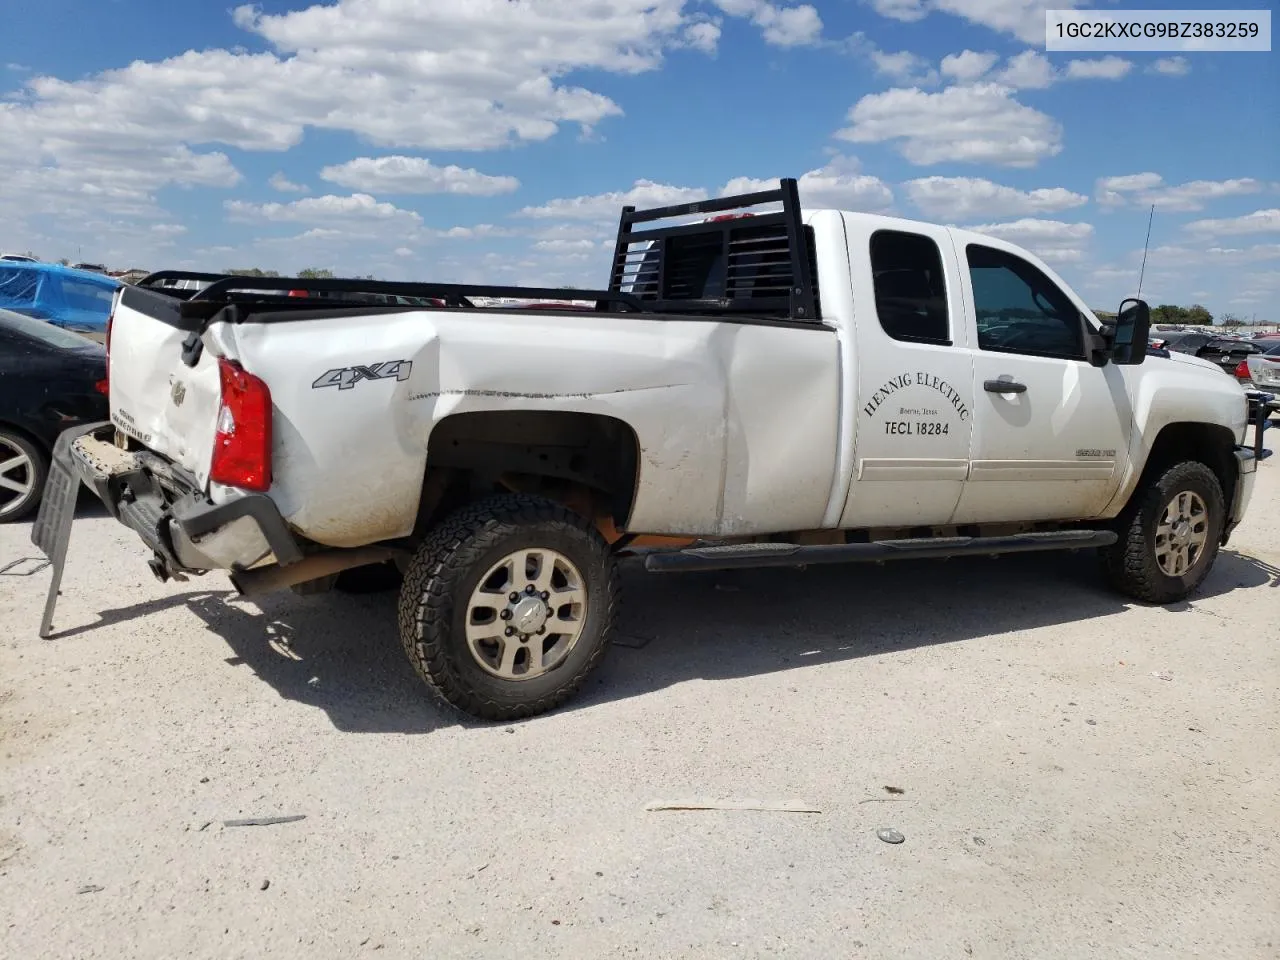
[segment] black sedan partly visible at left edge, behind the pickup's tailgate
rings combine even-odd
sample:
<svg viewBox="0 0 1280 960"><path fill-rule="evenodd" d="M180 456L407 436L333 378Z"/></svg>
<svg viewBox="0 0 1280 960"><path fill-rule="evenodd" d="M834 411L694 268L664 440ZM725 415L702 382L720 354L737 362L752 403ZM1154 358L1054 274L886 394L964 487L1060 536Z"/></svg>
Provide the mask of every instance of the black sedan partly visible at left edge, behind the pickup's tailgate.
<svg viewBox="0 0 1280 960"><path fill-rule="evenodd" d="M58 434L108 416L100 344L0 310L0 524L40 504Z"/></svg>

